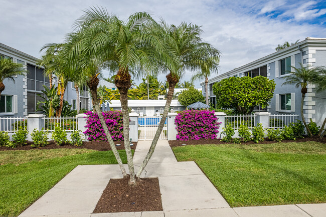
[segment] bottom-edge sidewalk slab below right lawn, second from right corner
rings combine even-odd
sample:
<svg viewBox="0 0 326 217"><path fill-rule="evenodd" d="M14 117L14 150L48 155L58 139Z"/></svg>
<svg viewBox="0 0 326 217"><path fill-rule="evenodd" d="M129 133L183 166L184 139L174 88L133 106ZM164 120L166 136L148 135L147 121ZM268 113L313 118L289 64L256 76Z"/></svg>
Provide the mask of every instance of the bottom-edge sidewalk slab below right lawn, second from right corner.
<svg viewBox="0 0 326 217"><path fill-rule="evenodd" d="M296 205L251 206L233 209L239 217L311 217Z"/></svg>

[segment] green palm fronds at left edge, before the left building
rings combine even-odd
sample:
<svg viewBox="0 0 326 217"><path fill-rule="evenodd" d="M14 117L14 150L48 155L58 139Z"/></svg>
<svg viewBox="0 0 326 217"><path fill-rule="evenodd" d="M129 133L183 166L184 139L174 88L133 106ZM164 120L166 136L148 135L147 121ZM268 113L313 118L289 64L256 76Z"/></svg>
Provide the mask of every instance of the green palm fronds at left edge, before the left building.
<svg viewBox="0 0 326 217"><path fill-rule="evenodd" d="M17 75L24 75L26 70L23 64L14 63L12 59L6 59L0 56L0 99L1 93L5 90L4 80L9 79L15 83L14 77Z"/></svg>

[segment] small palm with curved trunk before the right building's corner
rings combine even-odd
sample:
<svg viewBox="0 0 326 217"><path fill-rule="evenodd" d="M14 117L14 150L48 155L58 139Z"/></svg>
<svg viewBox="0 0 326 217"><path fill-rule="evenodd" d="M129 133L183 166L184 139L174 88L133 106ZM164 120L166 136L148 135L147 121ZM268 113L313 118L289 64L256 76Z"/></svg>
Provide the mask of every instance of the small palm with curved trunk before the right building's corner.
<svg viewBox="0 0 326 217"><path fill-rule="evenodd" d="M305 122L305 118L303 116L303 102L304 102L304 97L305 94L307 93L307 85L308 84L313 84L315 81L315 76L317 68L310 68L303 67L303 65L300 63L301 68L295 68L292 66L294 69L293 72L287 71L289 73L288 76L285 77L285 82L282 84L283 85L295 85L296 88L301 87L301 118L302 122L308 132L309 136L312 136L309 127L307 126Z"/></svg>

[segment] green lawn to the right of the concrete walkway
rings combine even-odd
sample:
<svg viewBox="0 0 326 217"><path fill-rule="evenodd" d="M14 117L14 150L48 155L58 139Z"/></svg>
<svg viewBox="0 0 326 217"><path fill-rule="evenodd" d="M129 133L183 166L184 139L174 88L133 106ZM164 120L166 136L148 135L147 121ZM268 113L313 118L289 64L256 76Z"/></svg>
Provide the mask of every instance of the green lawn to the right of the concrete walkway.
<svg viewBox="0 0 326 217"><path fill-rule="evenodd" d="M174 147L195 161L233 206L326 202L326 144L317 142Z"/></svg>

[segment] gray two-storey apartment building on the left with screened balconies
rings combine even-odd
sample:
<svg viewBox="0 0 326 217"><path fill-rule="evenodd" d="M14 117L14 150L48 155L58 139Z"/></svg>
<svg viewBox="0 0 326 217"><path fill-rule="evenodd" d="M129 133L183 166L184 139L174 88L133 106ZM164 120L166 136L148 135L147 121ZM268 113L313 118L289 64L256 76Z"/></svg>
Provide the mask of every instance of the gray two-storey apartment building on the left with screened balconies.
<svg viewBox="0 0 326 217"><path fill-rule="evenodd" d="M49 77L44 76L43 69L37 66L38 58L18 51L7 45L0 43L0 55L11 58L16 63L21 63L28 73L15 78L15 83L6 79L5 90L2 92L0 100L0 116L24 117L35 113L37 102L43 100L38 94L44 90L43 85L50 86ZM53 82L56 84L56 78ZM72 82L69 82L64 96L69 104L76 108L77 93ZM90 94L86 87L80 91L80 108L90 109Z"/></svg>

